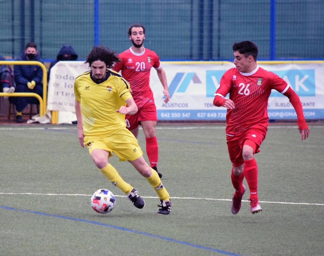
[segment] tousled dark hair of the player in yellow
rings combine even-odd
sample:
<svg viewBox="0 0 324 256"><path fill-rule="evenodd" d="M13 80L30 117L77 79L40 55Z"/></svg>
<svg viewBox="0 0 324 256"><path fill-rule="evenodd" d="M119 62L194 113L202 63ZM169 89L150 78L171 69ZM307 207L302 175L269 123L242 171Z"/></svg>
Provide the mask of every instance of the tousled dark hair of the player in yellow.
<svg viewBox="0 0 324 256"><path fill-rule="evenodd" d="M116 51L110 50L108 47L103 45L96 45L92 48L90 53L88 54L85 63L89 63L91 67L92 62L96 60L101 60L105 62L107 68L111 69L114 63L120 62Z"/></svg>

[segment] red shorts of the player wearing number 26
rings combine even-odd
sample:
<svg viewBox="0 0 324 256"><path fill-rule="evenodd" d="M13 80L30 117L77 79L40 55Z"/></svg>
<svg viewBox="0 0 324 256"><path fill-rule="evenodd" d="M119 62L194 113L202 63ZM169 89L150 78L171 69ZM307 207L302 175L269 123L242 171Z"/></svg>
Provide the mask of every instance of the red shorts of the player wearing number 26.
<svg viewBox="0 0 324 256"><path fill-rule="evenodd" d="M244 164L243 156L242 156L242 149L244 145L244 141L249 139L255 144L257 144L257 148L254 154L260 152L259 147L265 136L267 134L268 127L264 125L253 125L251 128L247 129L242 133L238 133L234 136L226 136L227 140L227 147L229 158L232 162L234 167L238 167Z"/></svg>

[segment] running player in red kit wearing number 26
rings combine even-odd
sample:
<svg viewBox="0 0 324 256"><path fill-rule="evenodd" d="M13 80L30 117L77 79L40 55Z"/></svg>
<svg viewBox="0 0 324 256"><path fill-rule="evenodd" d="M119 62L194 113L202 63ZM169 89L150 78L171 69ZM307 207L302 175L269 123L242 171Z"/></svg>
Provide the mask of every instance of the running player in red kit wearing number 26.
<svg viewBox="0 0 324 256"><path fill-rule="evenodd" d="M301 140L308 138L309 129L305 122L299 97L290 86L276 74L262 69L257 64L258 47L250 41L234 43L234 64L227 70L215 92L214 105L227 108L226 140L233 168L231 179L235 194L231 211L237 214L246 191L243 179L250 190L251 212L261 211L257 194L258 167L254 154L264 140L268 128L268 98L275 89L289 98L297 113L297 128ZM229 99L225 96L229 93Z"/></svg>

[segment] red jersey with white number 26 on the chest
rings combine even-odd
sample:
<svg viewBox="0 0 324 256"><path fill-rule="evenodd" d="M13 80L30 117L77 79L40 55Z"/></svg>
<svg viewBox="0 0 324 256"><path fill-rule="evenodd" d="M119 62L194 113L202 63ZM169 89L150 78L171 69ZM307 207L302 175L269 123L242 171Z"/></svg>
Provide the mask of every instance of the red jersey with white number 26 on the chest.
<svg viewBox="0 0 324 256"><path fill-rule="evenodd" d="M268 126L268 99L271 90L285 93L289 85L273 72L257 68L251 73L240 73L237 68L227 70L215 92L214 105L223 106L225 96L234 101L235 108L227 110L226 134L235 135L255 124Z"/></svg>

